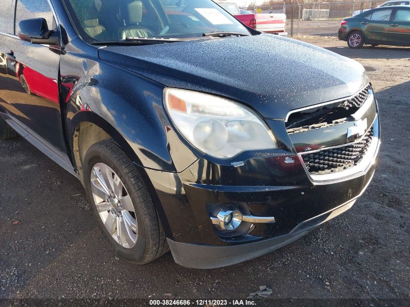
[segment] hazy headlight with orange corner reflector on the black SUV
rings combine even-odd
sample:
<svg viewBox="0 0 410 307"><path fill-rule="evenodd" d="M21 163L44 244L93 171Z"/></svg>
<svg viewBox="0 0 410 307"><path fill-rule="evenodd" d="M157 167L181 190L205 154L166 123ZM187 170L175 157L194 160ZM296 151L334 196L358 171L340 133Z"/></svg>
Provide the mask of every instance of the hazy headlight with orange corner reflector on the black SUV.
<svg viewBox="0 0 410 307"><path fill-rule="evenodd" d="M175 88L165 89L164 102L182 136L210 156L226 159L247 150L278 148L259 116L236 102Z"/></svg>

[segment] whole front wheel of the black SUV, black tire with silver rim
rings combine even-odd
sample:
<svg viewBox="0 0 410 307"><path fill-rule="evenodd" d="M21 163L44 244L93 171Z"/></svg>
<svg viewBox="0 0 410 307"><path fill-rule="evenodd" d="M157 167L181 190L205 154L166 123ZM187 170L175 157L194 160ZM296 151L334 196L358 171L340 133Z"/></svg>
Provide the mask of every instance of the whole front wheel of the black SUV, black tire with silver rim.
<svg viewBox="0 0 410 307"><path fill-rule="evenodd" d="M104 169L104 167L106 168ZM101 196L108 197L106 202L101 201L102 197L96 196L95 193L96 191L98 193L101 192L100 190L96 190L96 186L100 182L98 179L104 177L102 176L100 178L95 174L98 173L101 175L104 172L110 174L109 176L104 175L105 178L109 178L110 176L113 178L114 188L112 189L112 194L118 194L118 196L102 194ZM97 223L108 239L108 242L111 243L120 257L136 264L144 264L160 257L169 250L164 229L141 175L128 156L112 140L100 141L88 149L83 163L83 178L88 203ZM94 180L93 182L91 182L92 179ZM108 181L110 181L110 179L108 179ZM116 182L120 183L118 184L120 188L115 188ZM109 184L110 182L106 186ZM102 187L102 185L98 186ZM117 192L114 192L115 190L117 190ZM119 194L122 196L119 196ZM128 196L130 198L127 198ZM125 201L126 198L131 199L131 205L130 200L128 202ZM118 207L116 207L117 205L113 199L115 199L115 201L119 200ZM100 212L98 212L97 206ZM107 210L108 207L110 207L109 210ZM115 214L119 215L115 217ZM105 216L107 216L107 218L104 224L103 218ZM117 220L116 222L112 222L112 219ZM131 219L133 222L127 224L127 221ZM123 231L126 229L127 232L125 232L124 236L121 236L120 234L122 232L118 232L118 229L123 229ZM135 242L132 241L134 235L136 236ZM123 239L123 237L125 239ZM132 243L135 245L132 246Z"/></svg>

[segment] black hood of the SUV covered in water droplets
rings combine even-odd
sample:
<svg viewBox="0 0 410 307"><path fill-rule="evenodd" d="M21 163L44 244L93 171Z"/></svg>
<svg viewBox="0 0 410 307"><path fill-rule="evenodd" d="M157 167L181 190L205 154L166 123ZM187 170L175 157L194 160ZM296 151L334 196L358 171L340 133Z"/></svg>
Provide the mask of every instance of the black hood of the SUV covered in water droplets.
<svg viewBox="0 0 410 307"><path fill-rule="evenodd" d="M273 34L109 46L98 54L167 87L228 97L274 119L354 95L369 82L358 62Z"/></svg>

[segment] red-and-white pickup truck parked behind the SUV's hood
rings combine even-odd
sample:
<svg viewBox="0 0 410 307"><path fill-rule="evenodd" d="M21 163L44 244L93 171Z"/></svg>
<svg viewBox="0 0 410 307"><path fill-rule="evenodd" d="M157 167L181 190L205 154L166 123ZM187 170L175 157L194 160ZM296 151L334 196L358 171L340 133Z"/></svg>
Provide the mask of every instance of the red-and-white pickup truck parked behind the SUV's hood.
<svg viewBox="0 0 410 307"><path fill-rule="evenodd" d="M215 1L222 8L228 11L236 19L246 24L246 26L269 33L278 33L279 35L288 35L285 30L285 14L253 14L246 10L240 10L236 3L226 1Z"/></svg>

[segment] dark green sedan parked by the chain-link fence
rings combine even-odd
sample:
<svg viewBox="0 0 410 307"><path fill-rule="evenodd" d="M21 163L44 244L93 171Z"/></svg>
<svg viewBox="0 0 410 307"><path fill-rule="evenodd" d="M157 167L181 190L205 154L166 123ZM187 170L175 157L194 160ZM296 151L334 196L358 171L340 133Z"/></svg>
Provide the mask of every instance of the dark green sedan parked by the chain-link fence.
<svg viewBox="0 0 410 307"><path fill-rule="evenodd" d="M376 8L346 18L338 36L350 48L364 44L410 46L410 6Z"/></svg>

